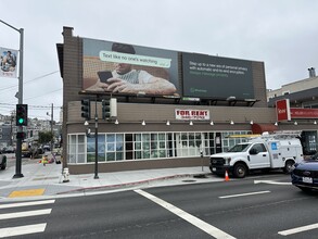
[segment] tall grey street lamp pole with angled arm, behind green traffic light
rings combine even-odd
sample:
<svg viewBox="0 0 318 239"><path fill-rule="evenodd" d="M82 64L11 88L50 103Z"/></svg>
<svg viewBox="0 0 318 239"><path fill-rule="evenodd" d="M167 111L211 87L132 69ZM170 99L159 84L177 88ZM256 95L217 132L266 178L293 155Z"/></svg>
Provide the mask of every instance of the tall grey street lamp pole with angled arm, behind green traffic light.
<svg viewBox="0 0 318 239"><path fill-rule="evenodd" d="M18 104L23 104L23 28L15 28L4 21L0 20L1 23L9 26L10 28L20 33L20 56L18 56L18 92L16 95ZM17 133L23 131L23 126L17 126ZM15 175L13 178L23 177L21 173L21 164L22 164L22 138L16 139L16 161L15 161Z"/></svg>

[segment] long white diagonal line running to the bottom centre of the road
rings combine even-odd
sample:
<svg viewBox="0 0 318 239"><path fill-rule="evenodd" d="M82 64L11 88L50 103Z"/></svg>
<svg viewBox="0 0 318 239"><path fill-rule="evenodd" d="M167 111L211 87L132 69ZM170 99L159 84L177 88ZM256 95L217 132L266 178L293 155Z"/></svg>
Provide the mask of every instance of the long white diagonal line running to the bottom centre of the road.
<svg viewBox="0 0 318 239"><path fill-rule="evenodd" d="M214 238L217 238L217 239L236 239L234 237L232 237L231 235L229 234L226 234L225 231L205 223L204 221L187 213L186 211L183 210L180 210L179 207L153 196L153 194L150 194L141 189L137 189L135 190L137 193L143 196L144 198L148 198L149 200L155 202L156 204L165 207L166 210L170 211L171 213L174 213L175 215L181 217L182 219L189 222L190 224L196 226L199 229L205 231L206 234L213 236Z"/></svg>

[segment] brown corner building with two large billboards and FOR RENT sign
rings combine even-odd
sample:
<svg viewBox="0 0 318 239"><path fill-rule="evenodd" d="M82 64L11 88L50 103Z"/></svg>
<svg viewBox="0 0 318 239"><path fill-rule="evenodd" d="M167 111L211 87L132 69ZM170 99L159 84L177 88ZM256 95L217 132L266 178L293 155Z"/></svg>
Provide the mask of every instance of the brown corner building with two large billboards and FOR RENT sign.
<svg viewBox="0 0 318 239"><path fill-rule="evenodd" d="M100 172L207 165L212 153L244 140L231 135L317 130L314 124L275 125L263 62L139 46L127 54L114 50L116 42L75 37L71 27L63 28L63 39L58 43L63 166L73 174L94 172L96 159ZM176 90L167 95L91 90L103 80L99 72L115 71L112 66L118 61L168 78ZM102 100L110 98L117 100L116 116L103 120ZM90 100L88 124L81 117L82 99Z"/></svg>

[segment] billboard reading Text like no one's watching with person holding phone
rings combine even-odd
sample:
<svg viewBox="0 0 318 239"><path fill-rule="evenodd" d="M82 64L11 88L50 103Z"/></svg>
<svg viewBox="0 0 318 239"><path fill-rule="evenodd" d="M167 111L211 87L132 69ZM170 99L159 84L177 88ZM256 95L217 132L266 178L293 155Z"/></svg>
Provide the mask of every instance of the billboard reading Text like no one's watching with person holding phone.
<svg viewBox="0 0 318 239"><path fill-rule="evenodd" d="M82 89L180 96L176 51L82 39Z"/></svg>

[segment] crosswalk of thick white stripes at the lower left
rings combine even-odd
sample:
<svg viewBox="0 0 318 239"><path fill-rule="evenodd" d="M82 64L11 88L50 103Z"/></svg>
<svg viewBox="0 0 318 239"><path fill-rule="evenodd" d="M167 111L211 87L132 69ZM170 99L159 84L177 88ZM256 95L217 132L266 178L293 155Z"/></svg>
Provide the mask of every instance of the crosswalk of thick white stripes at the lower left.
<svg viewBox="0 0 318 239"><path fill-rule="evenodd" d="M4 227L4 228L1 227L1 225L3 225L3 223L1 222L30 217L30 216L48 215L51 213L52 209L28 210L28 206L50 205L50 204L53 204L55 200L41 200L41 201L0 204L0 238L43 232L47 227L46 222L39 222L38 224L27 224L27 219L25 219L24 221L26 222L25 225L18 225L18 226L15 225L14 227ZM20 211L3 213L4 210L8 211L11 209L13 210L18 209Z"/></svg>

